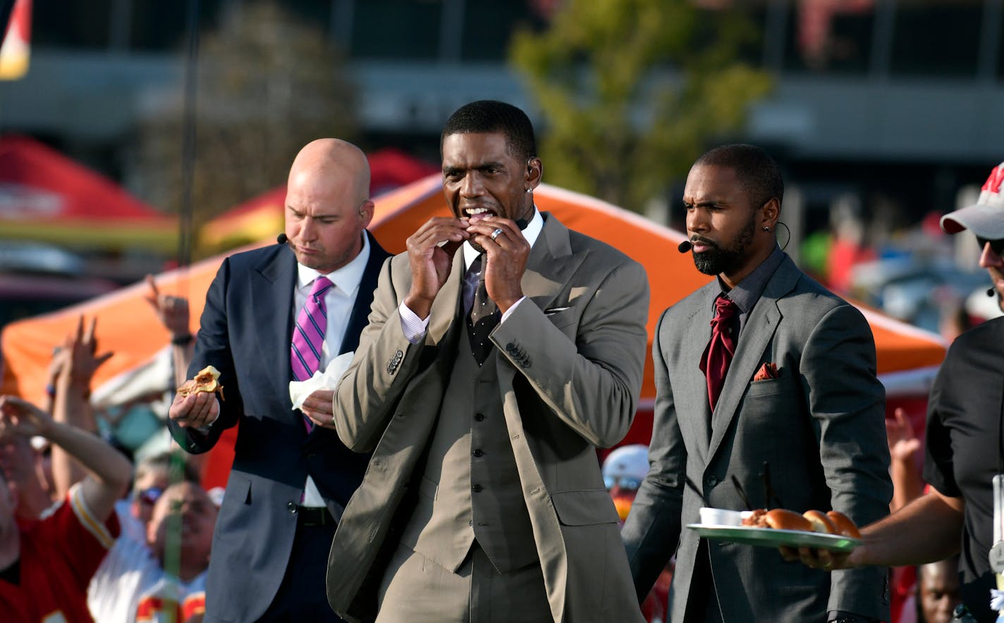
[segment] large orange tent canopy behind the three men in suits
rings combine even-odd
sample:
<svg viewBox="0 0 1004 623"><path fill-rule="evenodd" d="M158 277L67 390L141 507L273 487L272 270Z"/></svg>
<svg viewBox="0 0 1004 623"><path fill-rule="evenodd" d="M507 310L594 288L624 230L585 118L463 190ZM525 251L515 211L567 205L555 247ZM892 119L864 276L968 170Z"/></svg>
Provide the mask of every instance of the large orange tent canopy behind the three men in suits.
<svg viewBox="0 0 1004 623"><path fill-rule="evenodd" d="M433 175L375 199L370 231L385 248L392 253L404 251L406 239L421 224L434 215L449 214L440 185L440 176ZM677 252L684 235L675 230L548 185L541 185L534 192L534 199L541 211L552 213L570 229L605 241L646 267L652 289L650 348L662 311L710 279L697 271L689 254ZM274 242L269 239L244 250L266 244ZM158 277L163 292L190 299L194 329L198 328L209 284L226 255L229 253ZM95 386L147 362L167 344L169 336L144 300L146 293L147 286L141 282L52 314L8 325L0 336L5 363L0 391L40 400L52 347L73 330L80 314L97 317L99 349L114 352L98 370ZM940 337L878 312L862 311L874 334L880 374L909 372L941 363L945 344ZM651 357L648 357L642 398L652 399L655 393Z"/></svg>

